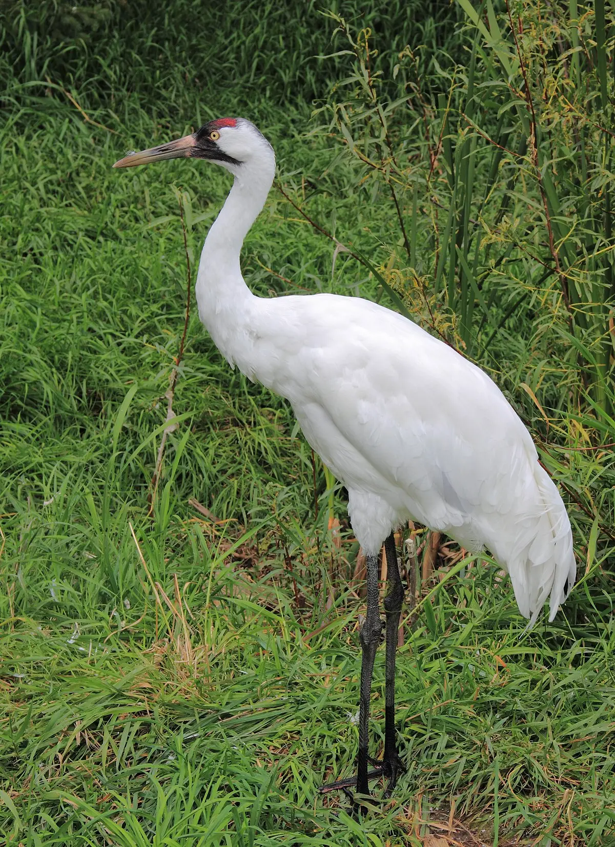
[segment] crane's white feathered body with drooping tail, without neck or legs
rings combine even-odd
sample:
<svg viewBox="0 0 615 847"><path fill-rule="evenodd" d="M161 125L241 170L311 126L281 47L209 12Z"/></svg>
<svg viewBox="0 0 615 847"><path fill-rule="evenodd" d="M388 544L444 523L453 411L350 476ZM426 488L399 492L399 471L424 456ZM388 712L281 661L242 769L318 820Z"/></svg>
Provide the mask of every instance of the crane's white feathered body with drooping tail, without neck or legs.
<svg viewBox="0 0 615 847"><path fill-rule="evenodd" d="M291 401L308 442L346 484L357 538L364 543L363 525L388 534L391 520L414 518L468 549L486 546L510 573L520 612L534 623L551 596L552 619L575 577L570 523L495 383L372 302L260 303L274 307L276 334L261 314L252 374Z"/></svg>

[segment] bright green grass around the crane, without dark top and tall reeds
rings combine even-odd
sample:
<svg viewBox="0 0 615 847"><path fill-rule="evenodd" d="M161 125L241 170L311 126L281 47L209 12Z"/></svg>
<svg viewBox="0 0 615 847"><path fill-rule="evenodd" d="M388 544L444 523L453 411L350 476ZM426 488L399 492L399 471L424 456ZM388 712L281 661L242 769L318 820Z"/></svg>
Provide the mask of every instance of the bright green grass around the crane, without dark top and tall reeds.
<svg viewBox="0 0 615 847"><path fill-rule="evenodd" d="M285 404L221 360L194 308L175 391L180 426L148 516L186 306L177 191L194 257L229 181L202 163L117 173L114 160L244 113L274 143L280 182L343 241L378 257L390 220L353 193L350 166L330 136L309 132L310 108L289 99L286 78L257 97L249 69L233 77L228 56L198 83L178 53L158 68L157 99L139 53L109 83L112 105L101 105L104 86L97 102L84 83L89 120L53 86L14 80L5 98L6 843L415 845L430 833L447 844L614 844L615 640L609 582L595 576L609 549L596 551L596 537L593 549L576 538L592 579L531 633L493 567L426 587L398 665L407 772L394 800L357 822L346 800L316 790L352 771L357 744L363 602L349 585L357 549L343 492L328 490ZM117 55L106 61L120 67ZM316 93L318 79L314 71ZM220 97L204 97L216 81ZM327 190L311 196L309 180ZM243 268L263 296L382 296L275 192ZM590 490L573 470L562 470L565 481Z"/></svg>

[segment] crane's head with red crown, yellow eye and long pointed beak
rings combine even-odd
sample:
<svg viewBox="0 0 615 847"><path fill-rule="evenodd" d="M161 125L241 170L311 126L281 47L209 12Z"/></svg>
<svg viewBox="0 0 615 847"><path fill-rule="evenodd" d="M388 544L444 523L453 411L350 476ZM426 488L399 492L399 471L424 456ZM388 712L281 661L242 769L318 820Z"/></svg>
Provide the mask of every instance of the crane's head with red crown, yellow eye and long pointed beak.
<svg viewBox="0 0 615 847"><path fill-rule="evenodd" d="M129 153L114 164L114 168L134 168L138 164L159 162L169 158L204 158L222 165L239 176L250 164L273 165L274 151L251 121L245 118L210 120L200 130L177 141ZM269 170L269 168L267 168Z"/></svg>

